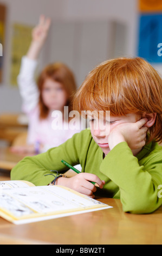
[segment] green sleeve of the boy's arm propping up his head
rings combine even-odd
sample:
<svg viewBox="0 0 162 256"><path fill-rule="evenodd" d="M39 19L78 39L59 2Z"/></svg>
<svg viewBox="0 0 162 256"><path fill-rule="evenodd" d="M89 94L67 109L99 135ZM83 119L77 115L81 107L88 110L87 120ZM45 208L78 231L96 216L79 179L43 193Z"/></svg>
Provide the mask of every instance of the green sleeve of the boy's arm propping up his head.
<svg viewBox="0 0 162 256"><path fill-rule="evenodd" d="M116 145L102 161L100 171L119 186L123 210L146 214L162 204L158 186L162 184L161 155L138 161L126 142Z"/></svg>

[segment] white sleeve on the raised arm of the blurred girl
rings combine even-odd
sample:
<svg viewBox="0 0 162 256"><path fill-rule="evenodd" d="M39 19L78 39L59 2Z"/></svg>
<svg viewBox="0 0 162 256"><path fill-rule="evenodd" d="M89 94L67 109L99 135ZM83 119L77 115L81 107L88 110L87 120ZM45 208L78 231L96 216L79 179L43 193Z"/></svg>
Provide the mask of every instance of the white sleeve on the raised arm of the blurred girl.
<svg viewBox="0 0 162 256"><path fill-rule="evenodd" d="M22 109L29 113L38 103L39 92L35 82L37 60L22 57L20 74L17 77L18 87L22 97Z"/></svg>

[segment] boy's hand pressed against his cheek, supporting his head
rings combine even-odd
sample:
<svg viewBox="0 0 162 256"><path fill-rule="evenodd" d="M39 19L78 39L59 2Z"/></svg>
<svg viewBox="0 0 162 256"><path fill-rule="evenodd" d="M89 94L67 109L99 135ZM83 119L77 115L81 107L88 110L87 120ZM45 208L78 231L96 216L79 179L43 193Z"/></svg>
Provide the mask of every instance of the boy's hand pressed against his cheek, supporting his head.
<svg viewBox="0 0 162 256"><path fill-rule="evenodd" d="M145 125L147 118L142 118L135 123L122 123L116 125L109 133L108 144L112 150L120 142L127 142L129 148L139 149L144 147L148 128Z"/></svg>

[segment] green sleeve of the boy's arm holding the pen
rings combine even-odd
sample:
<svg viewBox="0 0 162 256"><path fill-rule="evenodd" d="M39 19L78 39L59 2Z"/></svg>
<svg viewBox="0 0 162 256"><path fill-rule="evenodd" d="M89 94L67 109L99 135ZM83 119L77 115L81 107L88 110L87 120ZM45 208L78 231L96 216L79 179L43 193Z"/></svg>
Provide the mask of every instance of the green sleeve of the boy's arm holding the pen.
<svg viewBox="0 0 162 256"><path fill-rule="evenodd" d="M84 132L84 131L82 131ZM83 144L83 133L76 133L68 141L59 147L49 149L46 153L40 155L25 157L11 170L11 180L26 180L32 182L36 186L48 185L54 180L53 172L57 170L64 173L69 168L66 167L61 160L65 160L72 166L79 164L80 147ZM56 173L54 173L56 175Z"/></svg>

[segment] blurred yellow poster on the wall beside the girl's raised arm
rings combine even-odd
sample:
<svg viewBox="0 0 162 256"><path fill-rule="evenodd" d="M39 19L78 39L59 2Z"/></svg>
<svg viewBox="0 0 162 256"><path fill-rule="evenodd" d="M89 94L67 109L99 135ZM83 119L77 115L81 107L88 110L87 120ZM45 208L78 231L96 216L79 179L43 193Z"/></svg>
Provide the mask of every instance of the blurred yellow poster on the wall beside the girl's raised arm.
<svg viewBox="0 0 162 256"><path fill-rule="evenodd" d="M31 42L33 27L14 24L12 27L11 71L10 84L17 85L17 76L20 72L22 57L27 53Z"/></svg>

